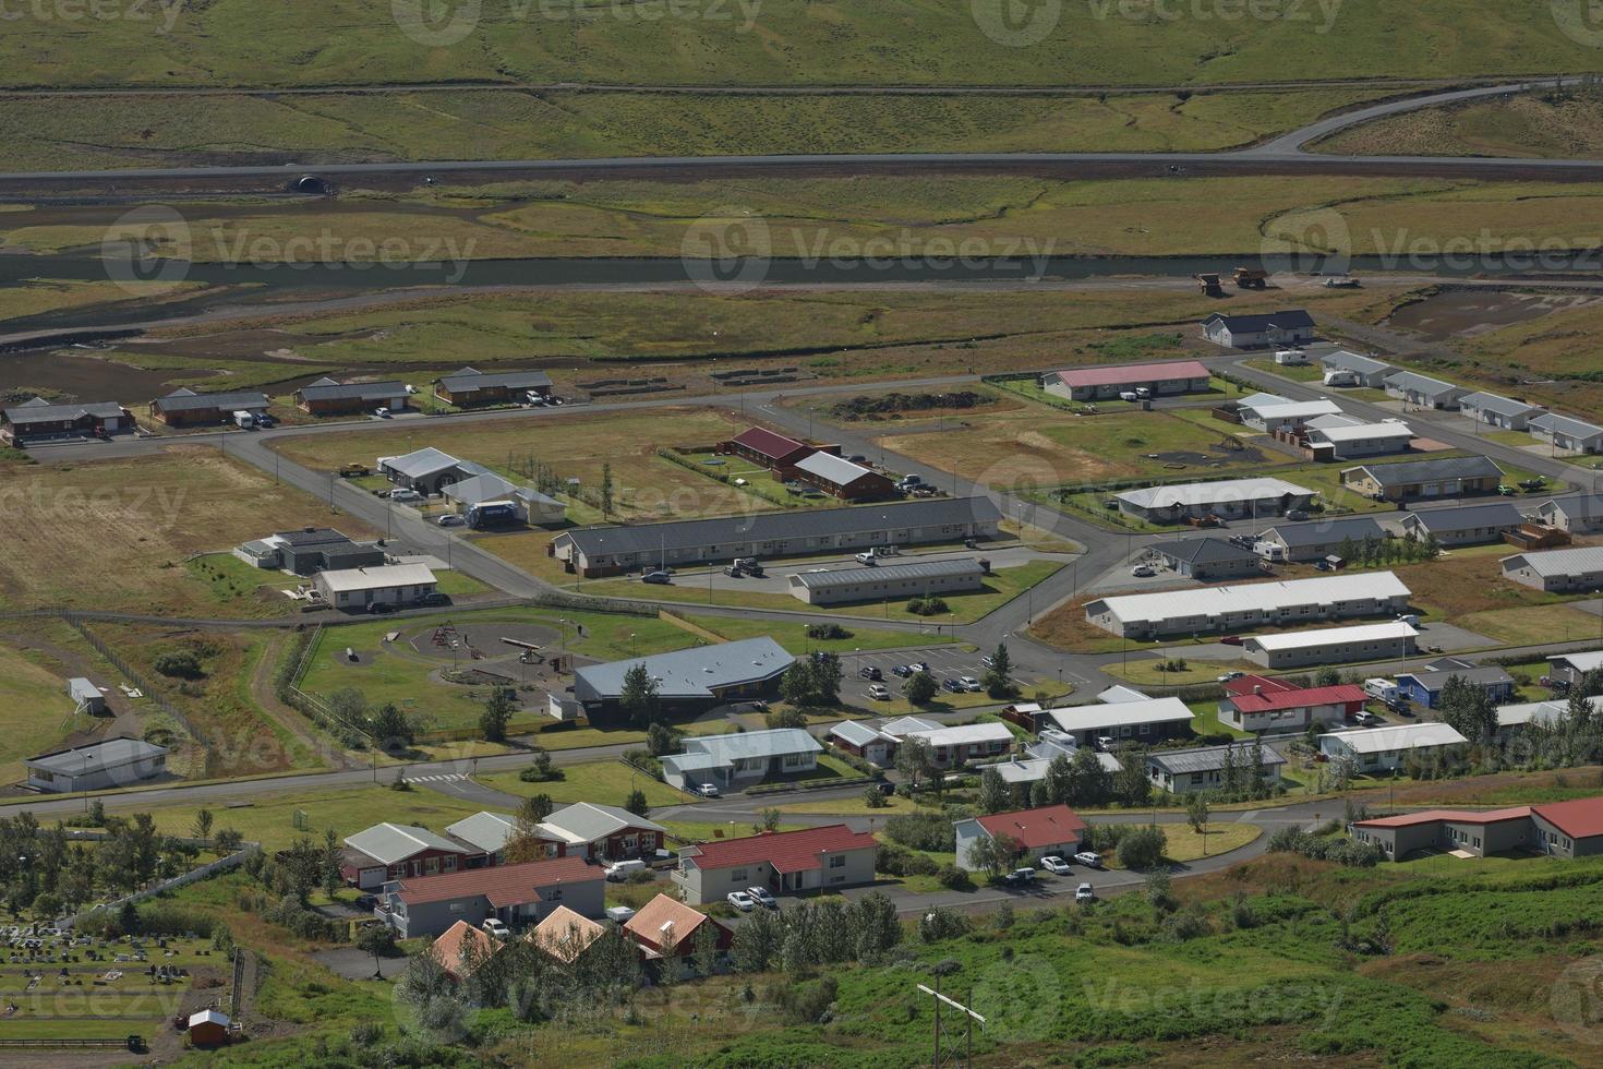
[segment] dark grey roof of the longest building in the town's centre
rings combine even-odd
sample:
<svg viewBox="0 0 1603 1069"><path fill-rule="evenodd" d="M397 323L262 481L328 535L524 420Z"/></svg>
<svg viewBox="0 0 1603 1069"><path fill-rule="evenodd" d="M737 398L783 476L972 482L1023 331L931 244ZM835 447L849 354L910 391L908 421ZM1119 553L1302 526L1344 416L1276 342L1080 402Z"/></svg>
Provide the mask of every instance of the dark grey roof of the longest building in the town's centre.
<svg viewBox="0 0 1603 1069"><path fill-rule="evenodd" d="M784 513L749 513L717 519L683 519L628 527L588 527L567 530L569 540L587 556L656 553L707 545L747 542L797 542L838 535L878 534L912 527L965 527L997 522L1002 513L987 497L936 497L883 505L846 508L803 508Z"/></svg>

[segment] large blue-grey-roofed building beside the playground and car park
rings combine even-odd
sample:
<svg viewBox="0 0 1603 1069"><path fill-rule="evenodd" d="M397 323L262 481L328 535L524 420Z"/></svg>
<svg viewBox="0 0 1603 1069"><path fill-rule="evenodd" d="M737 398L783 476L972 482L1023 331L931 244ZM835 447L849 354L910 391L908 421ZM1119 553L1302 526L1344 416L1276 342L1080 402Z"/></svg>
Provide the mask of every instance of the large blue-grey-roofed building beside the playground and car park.
<svg viewBox="0 0 1603 1069"><path fill-rule="evenodd" d="M575 668L574 700L592 720L612 720L622 715L619 700L628 670L644 665L664 712L699 713L729 702L776 697L779 680L793 664L795 657L768 636L692 646Z"/></svg>

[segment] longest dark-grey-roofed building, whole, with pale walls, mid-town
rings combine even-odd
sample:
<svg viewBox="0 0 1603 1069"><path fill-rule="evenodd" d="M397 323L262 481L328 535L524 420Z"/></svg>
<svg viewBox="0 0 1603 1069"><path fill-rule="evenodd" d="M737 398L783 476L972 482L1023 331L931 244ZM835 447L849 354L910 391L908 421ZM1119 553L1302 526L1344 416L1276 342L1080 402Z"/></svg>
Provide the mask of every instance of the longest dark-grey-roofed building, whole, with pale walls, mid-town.
<svg viewBox="0 0 1603 1069"><path fill-rule="evenodd" d="M806 556L878 545L992 539L1000 522L1002 513L987 497L944 497L564 530L551 540L551 556L579 575L619 575L633 569L713 564L747 556Z"/></svg>

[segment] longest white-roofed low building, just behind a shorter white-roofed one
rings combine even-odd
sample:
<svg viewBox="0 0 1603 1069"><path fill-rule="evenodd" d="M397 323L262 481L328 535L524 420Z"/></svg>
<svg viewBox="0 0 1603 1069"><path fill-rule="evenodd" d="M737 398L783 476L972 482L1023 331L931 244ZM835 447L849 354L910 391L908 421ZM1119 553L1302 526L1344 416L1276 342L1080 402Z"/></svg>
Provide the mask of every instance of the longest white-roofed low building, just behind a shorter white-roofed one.
<svg viewBox="0 0 1603 1069"><path fill-rule="evenodd" d="M1358 572L1100 598L1085 604L1085 619L1127 638L1205 635L1396 615L1409 595L1393 572Z"/></svg>

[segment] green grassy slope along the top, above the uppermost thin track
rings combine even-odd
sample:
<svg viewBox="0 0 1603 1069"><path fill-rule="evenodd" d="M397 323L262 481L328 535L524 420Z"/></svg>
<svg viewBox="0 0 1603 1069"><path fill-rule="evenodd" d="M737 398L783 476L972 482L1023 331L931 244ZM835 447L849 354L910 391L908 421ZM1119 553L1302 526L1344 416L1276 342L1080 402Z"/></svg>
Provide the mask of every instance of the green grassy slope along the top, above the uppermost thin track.
<svg viewBox="0 0 1603 1069"><path fill-rule="evenodd" d="M123 5L111 5L122 10ZM1058 11L1039 45L987 37L970 0L484 0L420 27L418 3L130 5L138 18L24 18L0 35L6 85L341 85L524 80L657 85L1175 85L1367 75L1574 72L1598 53L1545 0L1263 5L1274 18L1159 18L1138 5ZM981 5L984 10L984 5ZM1212 11L1212 5L1207 5ZM399 19L396 13L401 13ZM556 11L564 18L550 18ZM1135 18L1122 14L1135 11ZM750 14L749 14L750 13ZM1284 18L1282 13L1292 13ZM473 19L471 16L478 18ZM1334 18L1332 18L1334 16ZM463 32L450 30L460 27ZM431 37L430 30L446 34ZM1584 37L1584 35L1579 35ZM452 43L420 43L455 38Z"/></svg>

